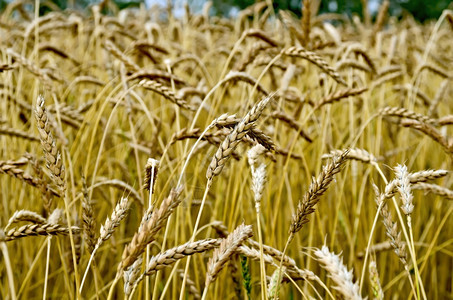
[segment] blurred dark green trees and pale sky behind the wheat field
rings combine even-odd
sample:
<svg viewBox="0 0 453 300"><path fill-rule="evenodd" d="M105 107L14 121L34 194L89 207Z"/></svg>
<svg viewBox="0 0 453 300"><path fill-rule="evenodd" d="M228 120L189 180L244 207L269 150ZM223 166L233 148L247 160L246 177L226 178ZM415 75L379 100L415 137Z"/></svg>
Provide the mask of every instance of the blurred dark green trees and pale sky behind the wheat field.
<svg viewBox="0 0 453 300"><path fill-rule="evenodd" d="M30 8L35 2L34 0L22 0L23 2L30 2ZM169 4L172 6L174 15L180 17L184 14L184 4L188 3L193 13L201 12L206 1L204 0L108 0L113 2L119 9L133 8L145 6L147 8L153 8L156 6L167 7ZM371 16L376 16L379 6L383 0L320 0L319 2L319 13L339 13L348 16L358 15L362 17L363 8L370 12ZM11 0L0 0L0 10L3 10ZM252 5L257 1L255 0L213 0L212 7L210 9L211 15L235 17L238 12ZM270 2L270 1L269 1ZM67 9L87 9L90 5L99 3L99 1L93 0L45 0L40 1L41 9L40 13L44 14L55 8ZM301 15L302 1L300 0L276 0L272 1L274 9L276 11L290 10L295 15ZM389 13L393 16L403 17L404 14L411 14L414 18L420 22L424 22L430 19L437 19L441 14L442 10L446 8L453 8L452 1L449 0L391 0ZM104 13L109 13L108 11Z"/></svg>

